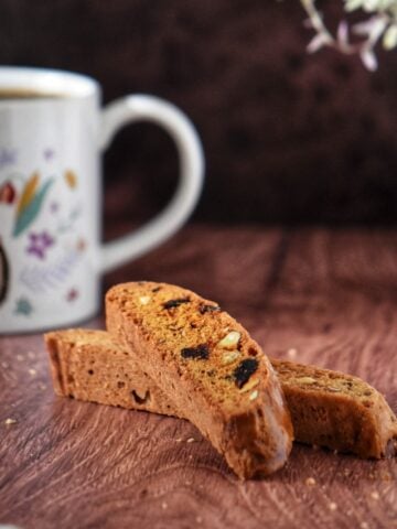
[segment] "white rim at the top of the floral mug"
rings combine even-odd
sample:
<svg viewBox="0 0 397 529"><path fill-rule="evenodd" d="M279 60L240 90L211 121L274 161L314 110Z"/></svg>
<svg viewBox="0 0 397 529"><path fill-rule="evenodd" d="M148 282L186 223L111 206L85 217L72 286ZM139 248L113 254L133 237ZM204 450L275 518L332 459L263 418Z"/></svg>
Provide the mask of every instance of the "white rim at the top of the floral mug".
<svg viewBox="0 0 397 529"><path fill-rule="evenodd" d="M40 100L85 98L99 93L99 84L93 77L64 69L31 66L0 66L0 91L21 90L40 93ZM1 102L37 102L34 96L3 97Z"/></svg>

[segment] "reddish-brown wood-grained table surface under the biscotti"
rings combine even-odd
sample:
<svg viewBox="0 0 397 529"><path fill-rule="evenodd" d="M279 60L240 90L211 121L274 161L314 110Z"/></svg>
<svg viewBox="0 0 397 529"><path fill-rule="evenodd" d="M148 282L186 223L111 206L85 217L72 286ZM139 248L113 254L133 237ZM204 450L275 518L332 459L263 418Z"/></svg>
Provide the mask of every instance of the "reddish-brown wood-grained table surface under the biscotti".
<svg viewBox="0 0 397 529"><path fill-rule="evenodd" d="M138 279L215 299L269 355L358 375L397 411L394 230L190 226L106 285ZM397 528L396 460L297 444L283 469L243 483L186 421L55 397L40 334L0 338L0 522Z"/></svg>

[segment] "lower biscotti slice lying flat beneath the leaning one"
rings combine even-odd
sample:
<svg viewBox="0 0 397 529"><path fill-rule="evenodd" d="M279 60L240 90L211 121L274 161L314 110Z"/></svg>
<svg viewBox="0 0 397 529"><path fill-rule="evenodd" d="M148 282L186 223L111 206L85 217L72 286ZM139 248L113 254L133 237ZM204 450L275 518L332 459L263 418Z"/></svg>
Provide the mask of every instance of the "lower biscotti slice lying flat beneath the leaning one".
<svg viewBox="0 0 397 529"><path fill-rule="evenodd" d="M45 335L57 395L181 415L139 364L104 331ZM397 420L384 397L357 377L271 359L291 412L296 440L361 457L397 452Z"/></svg>

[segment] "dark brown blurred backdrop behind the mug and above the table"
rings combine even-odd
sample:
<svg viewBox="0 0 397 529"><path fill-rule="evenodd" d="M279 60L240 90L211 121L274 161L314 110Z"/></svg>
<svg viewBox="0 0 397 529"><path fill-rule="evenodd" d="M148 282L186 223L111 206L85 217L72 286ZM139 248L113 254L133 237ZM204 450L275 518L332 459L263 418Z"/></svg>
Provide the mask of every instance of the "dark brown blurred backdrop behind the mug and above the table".
<svg viewBox="0 0 397 529"><path fill-rule="evenodd" d="M320 3L336 21L342 2ZM2 0L0 62L93 75L106 101L142 91L182 107L207 158L196 219L395 222L397 53L375 74L309 56L303 19L298 0ZM176 171L154 126L122 131L106 155L108 218L147 218Z"/></svg>

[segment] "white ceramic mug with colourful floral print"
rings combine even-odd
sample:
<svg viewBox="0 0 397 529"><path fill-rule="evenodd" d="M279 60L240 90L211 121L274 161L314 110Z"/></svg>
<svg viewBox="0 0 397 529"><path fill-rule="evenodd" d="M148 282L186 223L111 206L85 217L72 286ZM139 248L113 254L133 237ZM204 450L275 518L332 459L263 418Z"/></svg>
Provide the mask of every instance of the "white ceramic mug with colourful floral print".
<svg viewBox="0 0 397 529"><path fill-rule="evenodd" d="M131 235L101 245L100 154L126 123L163 127L180 155L170 204ZM132 95L100 108L78 74L0 67L0 333L66 326L96 314L104 272L154 248L194 208L203 151L173 105Z"/></svg>

